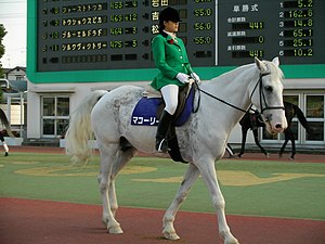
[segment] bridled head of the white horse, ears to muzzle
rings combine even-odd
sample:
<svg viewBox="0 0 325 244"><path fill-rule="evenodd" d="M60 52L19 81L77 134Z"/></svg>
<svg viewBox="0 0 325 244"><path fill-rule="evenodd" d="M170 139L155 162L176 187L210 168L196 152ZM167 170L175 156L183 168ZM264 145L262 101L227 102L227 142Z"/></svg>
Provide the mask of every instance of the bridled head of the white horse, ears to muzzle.
<svg viewBox="0 0 325 244"><path fill-rule="evenodd" d="M251 103L261 112L266 130L278 133L287 128L283 103L283 73L278 68L278 59L272 62L255 59L259 73L258 81L250 91Z"/></svg>

